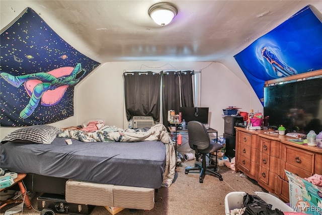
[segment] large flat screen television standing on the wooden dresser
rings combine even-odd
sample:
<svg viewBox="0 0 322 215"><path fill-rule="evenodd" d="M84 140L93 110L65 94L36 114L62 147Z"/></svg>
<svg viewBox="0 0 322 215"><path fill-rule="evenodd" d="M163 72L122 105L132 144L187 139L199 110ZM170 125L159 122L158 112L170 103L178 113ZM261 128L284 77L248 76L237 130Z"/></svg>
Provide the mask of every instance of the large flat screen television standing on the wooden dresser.
<svg viewBox="0 0 322 215"><path fill-rule="evenodd" d="M322 77L265 87L264 116L287 132L322 131Z"/></svg>

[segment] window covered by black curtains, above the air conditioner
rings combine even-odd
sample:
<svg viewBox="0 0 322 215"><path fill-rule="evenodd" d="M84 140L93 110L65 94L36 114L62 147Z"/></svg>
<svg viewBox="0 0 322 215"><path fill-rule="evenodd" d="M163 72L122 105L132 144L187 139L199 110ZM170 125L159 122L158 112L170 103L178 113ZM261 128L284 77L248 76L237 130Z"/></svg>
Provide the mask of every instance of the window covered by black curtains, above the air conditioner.
<svg viewBox="0 0 322 215"><path fill-rule="evenodd" d="M123 77L128 121L133 116L152 116L168 125L168 110L178 113L180 107L199 104L200 73L195 71L134 71Z"/></svg>

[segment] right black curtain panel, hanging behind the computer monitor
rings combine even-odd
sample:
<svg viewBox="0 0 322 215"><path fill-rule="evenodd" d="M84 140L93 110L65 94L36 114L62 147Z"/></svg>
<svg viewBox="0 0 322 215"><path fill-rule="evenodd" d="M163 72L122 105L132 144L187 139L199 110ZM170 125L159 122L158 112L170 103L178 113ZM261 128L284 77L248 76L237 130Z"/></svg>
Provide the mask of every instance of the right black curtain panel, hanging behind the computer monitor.
<svg viewBox="0 0 322 215"><path fill-rule="evenodd" d="M166 127L168 126L169 110L174 110L178 114L180 107L194 107L192 75L191 71L162 73L162 113L163 124Z"/></svg>

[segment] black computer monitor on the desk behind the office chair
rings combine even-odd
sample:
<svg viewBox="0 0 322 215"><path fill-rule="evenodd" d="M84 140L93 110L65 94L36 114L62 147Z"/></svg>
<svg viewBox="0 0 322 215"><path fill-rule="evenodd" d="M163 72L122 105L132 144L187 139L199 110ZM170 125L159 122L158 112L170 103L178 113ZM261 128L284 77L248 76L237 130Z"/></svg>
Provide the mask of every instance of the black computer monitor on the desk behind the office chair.
<svg viewBox="0 0 322 215"><path fill-rule="evenodd" d="M208 107L181 107L179 112L182 113L182 120L186 123L189 121L199 121L208 124Z"/></svg>

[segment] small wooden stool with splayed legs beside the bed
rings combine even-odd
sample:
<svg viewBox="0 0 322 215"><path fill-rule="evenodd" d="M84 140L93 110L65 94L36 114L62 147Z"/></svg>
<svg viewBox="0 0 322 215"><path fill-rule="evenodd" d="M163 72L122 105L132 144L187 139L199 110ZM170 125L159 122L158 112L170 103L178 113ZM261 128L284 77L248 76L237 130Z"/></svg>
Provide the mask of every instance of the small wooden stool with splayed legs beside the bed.
<svg viewBox="0 0 322 215"><path fill-rule="evenodd" d="M18 186L20 188L21 195L22 195L22 199L21 200L8 199L6 201L1 201L0 209L3 208L4 206L6 206L7 204L11 204L11 203L21 203L21 202L23 202L24 198L25 198L25 204L26 204L27 208L29 210L32 208L31 207L31 202L30 202L29 196L27 195L25 186L24 186L24 184L22 182L22 180L26 176L27 176L27 174L25 174L25 173L19 173L18 176L17 176L17 178L14 179L14 182L15 183L10 186L10 187L12 187L15 184L18 184ZM4 190L7 190L10 187L2 188L2 189L0 189L0 192L1 191L4 191Z"/></svg>

